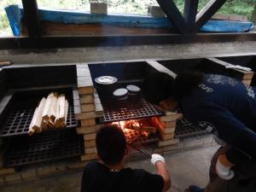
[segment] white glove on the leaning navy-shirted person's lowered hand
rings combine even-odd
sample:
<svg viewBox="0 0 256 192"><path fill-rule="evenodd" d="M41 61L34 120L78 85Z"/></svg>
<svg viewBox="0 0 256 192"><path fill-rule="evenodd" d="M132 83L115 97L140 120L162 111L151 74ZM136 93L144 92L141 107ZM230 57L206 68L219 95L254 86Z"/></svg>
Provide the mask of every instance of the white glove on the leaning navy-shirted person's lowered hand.
<svg viewBox="0 0 256 192"><path fill-rule="evenodd" d="M218 177L224 179L224 180L230 180L235 176L235 172L231 170L231 166L224 166L220 162L220 157L218 157L217 164L216 164L216 172L218 174Z"/></svg>

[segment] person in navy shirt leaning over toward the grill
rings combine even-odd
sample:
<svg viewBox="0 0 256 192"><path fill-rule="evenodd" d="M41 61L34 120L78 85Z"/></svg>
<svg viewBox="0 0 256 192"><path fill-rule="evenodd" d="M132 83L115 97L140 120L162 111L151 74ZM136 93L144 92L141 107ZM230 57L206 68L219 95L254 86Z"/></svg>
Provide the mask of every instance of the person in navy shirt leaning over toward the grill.
<svg viewBox="0 0 256 192"><path fill-rule="evenodd" d="M206 189L189 191L256 191L256 89L217 74L149 74L143 95L163 111L176 111L203 130L212 132L223 147L212 158Z"/></svg>

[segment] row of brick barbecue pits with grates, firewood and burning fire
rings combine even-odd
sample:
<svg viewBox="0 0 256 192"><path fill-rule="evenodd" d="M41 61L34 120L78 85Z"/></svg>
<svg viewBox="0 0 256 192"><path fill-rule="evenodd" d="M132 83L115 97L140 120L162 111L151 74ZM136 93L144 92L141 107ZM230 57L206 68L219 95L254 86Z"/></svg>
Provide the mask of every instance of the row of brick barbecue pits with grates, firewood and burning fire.
<svg viewBox="0 0 256 192"><path fill-rule="evenodd" d="M220 73L224 66L208 58L3 68L1 82L10 82L1 101L3 170L15 168L22 176L43 162L73 165L96 160L96 131L103 125L124 131L131 161L185 149L180 147L185 138L209 133L182 113L164 113L147 102L143 78L157 71L175 75L199 67L205 73ZM48 74L47 80L42 72ZM237 69L225 75L246 82L253 78L252 72ZM206 144L214 145L210 140L195 148Z"/></svg>

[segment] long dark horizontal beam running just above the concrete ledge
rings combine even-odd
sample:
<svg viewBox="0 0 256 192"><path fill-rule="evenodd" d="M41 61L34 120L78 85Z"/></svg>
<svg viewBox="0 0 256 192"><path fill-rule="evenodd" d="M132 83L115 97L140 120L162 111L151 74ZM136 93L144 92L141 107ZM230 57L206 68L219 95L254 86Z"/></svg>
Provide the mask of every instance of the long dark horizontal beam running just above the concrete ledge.
<svg viewBox="0 0 256 192"><path fill-rule="evenodd" d="M256 41L255 32L201 33L190 35L67 36L0 38L0 49L56 49L152 44L198 44Z"/></svg>

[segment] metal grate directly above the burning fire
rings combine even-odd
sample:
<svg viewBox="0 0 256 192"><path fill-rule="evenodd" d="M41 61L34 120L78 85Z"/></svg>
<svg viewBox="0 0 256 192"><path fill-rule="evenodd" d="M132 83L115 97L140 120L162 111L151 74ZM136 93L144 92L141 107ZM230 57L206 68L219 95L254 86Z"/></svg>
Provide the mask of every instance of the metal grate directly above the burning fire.
<svg viewBox="0 0 256 192"><path fill-rule="evenodd" d="M116 106L111 102L102 102L103 117L100 119L102 123L164 115L144 99L136 103L128 100L122 101L118 104L118 108Z"/></svg>

